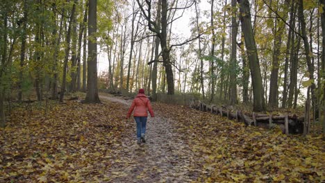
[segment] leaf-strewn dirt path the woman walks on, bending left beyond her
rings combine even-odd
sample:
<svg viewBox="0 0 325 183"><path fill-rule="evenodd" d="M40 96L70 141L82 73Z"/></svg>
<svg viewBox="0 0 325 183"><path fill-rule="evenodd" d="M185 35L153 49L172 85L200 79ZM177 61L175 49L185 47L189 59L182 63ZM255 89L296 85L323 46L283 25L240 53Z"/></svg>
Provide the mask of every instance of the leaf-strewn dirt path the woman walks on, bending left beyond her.
<svg viewBox="0 0 325 183"><path fill-rule="evenodd" d="M101 100L130 106L131 100L100 96ZM128 119L131 132L125 134L121 143L113 145L112 166L107 172L112 182L190 182L195 172L186 137L175 130L175 121L156 113L148 118L147 143L135 141L135 122ZM182 140L183 139L183 140ZM190 171L191 169L191 171Z"/></svg>

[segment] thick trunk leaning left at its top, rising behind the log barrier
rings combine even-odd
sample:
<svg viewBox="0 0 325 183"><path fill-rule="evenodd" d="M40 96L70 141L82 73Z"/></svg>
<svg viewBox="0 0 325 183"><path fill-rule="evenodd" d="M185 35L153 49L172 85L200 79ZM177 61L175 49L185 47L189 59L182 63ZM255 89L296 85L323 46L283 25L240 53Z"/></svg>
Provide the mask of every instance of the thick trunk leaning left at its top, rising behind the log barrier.
<svg viewBox="0 0 325 183"><path fill-rule="evenodd" d="M251 80L253 85L253 110L256 112L265 111L265 100L263 94L262 77L260 75L260 64L256 49L255 38L251 28L251 14L248 0L237 0L240 4L240 21L242 23L242 32L247 48L247 57L249 59L249 68L251 69Z"/></svg>

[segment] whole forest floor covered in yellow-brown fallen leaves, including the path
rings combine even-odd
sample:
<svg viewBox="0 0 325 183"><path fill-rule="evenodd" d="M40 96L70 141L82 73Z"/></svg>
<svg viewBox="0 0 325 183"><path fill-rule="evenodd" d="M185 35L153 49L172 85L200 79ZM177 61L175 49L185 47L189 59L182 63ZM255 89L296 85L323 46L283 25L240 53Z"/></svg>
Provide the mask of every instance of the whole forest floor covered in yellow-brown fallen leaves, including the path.
<svg viewBox="0 0 325 183"><path fill-rule="evenodd" d="M0 182L324 182L325 142L153 103L147 143L131 100L101 94L12 110L0 129Z"/></svg>

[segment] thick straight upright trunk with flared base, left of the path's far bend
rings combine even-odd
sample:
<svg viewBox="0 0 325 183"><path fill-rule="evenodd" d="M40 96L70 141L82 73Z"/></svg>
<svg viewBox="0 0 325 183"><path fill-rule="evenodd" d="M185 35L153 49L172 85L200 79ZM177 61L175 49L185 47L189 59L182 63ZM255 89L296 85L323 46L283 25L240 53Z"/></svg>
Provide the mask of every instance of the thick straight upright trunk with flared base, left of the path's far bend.
<svg viewBox="0 0 325 183"><path fill-rule="evenodd" d="M89 1L88 7L88 77L84 103L101 103L97 88L97 0Z"/></svg>

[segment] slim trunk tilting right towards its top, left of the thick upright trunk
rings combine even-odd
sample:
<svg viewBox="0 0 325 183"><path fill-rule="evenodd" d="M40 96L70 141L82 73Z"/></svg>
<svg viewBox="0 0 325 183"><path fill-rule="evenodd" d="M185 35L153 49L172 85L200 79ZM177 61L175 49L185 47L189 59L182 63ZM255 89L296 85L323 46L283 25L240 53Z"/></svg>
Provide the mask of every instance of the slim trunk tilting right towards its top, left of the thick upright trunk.
<svg viewBox="0 0 325 183"><path fill-rule="evenodd" d="M63 80L62 80L62 85L61 85L61 92L60 92L60 102L63 102L63 96L65 94L65 85L67 82L67 64L68 64L68 60L69 60L69 52L70 52L70 40L71 40L71 29L72 29L72 24L73 24L73 20L74 20L74 12L76 12L76 3L77 0L74 0L74 5L72 6L72 12L71 12L71 16L70 16L70 20L69 20L69 26L68 26L68 30L67 30L67 38L66 38L66 42L67 42L67 47L65 48L65 60L63 62Z"/></svg>

